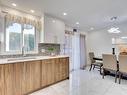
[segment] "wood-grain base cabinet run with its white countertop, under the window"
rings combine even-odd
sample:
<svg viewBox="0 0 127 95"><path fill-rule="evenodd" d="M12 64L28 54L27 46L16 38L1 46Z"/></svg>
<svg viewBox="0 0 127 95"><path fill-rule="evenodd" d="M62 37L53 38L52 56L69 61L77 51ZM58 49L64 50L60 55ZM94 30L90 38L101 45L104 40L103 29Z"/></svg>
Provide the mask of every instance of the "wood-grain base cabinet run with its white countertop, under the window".
<svg viewBox="0 0 127 95"><path fill-rule="evenodd" d="M65 55L0 59L0 95L28 95L68 78Z"/></svg>

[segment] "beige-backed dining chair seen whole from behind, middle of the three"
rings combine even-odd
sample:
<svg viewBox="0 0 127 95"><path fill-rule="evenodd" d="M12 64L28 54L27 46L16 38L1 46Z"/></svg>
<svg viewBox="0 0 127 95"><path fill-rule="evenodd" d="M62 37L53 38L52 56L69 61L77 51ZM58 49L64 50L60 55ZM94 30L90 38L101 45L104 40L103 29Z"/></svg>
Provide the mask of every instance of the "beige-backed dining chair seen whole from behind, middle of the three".
<svg viewBox="0 0 127 95"><path fill-rule="evenodd" d="M117 82L117 58L113 54L103 54L103 79L106 71L115 72L115 83Z"/></svg>

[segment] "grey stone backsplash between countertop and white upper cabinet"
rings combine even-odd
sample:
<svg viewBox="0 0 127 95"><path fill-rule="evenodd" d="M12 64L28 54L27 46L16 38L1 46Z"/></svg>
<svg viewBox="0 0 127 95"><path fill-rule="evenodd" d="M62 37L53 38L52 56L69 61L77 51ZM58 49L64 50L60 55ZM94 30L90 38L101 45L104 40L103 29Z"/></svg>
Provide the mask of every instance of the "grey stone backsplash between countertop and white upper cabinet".
<svg viewBox="0 0 127 95"><path fill-rule="evenodd" d="M36 54L26 54L26 56L48 56L48 55L59 55L60 54L60 44L52 43L39 43L38 44L38 53ZM5 58L17 58L22 57L22 54L9 54L9 55L0 55L0 59Z"/></svg>

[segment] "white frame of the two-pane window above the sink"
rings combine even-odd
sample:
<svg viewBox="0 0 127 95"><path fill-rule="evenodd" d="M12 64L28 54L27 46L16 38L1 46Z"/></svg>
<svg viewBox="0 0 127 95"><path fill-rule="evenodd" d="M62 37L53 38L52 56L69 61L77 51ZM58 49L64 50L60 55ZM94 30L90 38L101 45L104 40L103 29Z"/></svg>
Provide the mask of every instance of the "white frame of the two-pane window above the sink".
<svg viewBox="0 0 127 95"><path fill-rule="evenodd" d="M12 21L13 22L13 21ZM18 22L13 22L13 23L18 23ZM24 24L21 24L21 23L18 23L18 24L20 24L21 25L21 41L20 41L20 43L21 43L21 47L20 47L20 50L19 51L6 51L6 28L7 28L7 20L5 19L5 22L4 22L4 53L5 54L22 54L22 47L23 47L23 34L24 34L24 32L23 32L23 30L24 30L24 28L23 28L23 25ZM30 24L29 24L30 25ZM33 25L32 25L33 26ZM38 45L37 45L37 29L36 29L36 27L35 26L33 26L34 28L35 28L35 30L34 30L34 32L35 32L35 35L34 35L34 50L33 51L25 51L25 54L35 54L35 53L38 53Z"/></svg>

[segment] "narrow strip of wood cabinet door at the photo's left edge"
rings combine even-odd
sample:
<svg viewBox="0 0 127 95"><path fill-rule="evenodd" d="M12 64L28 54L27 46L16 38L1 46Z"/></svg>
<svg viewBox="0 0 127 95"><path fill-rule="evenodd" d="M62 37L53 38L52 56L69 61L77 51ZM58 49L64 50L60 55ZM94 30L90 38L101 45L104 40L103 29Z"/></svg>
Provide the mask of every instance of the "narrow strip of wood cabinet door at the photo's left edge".
<svg viewBox="0 0 127 95"><path fill-rule="evenodd" d="M4 86L5 86L4 84L4 65L0 65L0 95L5 95Z"/></svg>

